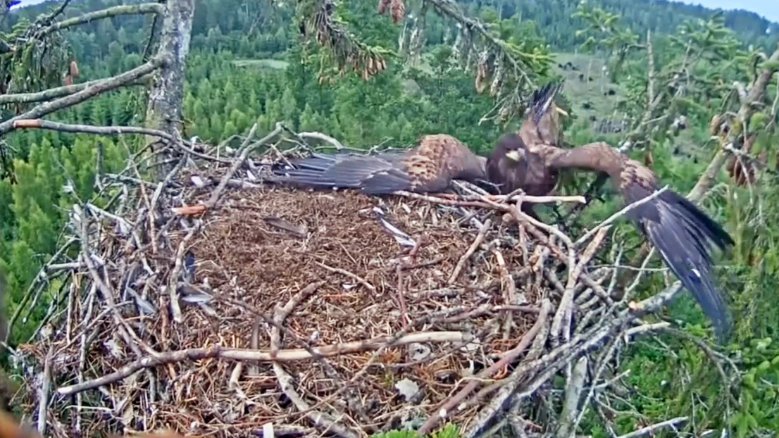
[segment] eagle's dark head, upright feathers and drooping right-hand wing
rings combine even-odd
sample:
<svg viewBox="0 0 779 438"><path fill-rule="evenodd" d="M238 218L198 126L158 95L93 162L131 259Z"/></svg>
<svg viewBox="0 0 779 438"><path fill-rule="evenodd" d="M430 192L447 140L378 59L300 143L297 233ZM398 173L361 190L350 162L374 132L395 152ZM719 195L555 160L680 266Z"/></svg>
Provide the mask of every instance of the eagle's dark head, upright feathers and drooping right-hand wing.
<svg viewBox="0 0 779 438"><path fill-rule="evenodd" d="M590 143L563 149L559 137L558 112L553 100L560 86L548 84L530 97L529 115L520 131L499 140L487 159L488 181L502 193L523 189L533 196L552 192L562 169L575 168L605 174L626 204L635 203L657 190L657 176L608 143ZM524 206L525 204L523 204ZM531 207L523 208L532 214ZM664 263L687 290L693 293L703 312L714 322L717 337L728 331L724 299L711 277L710 242L720 249L733 239L720 224L673 190L629 210L627 217L660 253Z"/></svg>

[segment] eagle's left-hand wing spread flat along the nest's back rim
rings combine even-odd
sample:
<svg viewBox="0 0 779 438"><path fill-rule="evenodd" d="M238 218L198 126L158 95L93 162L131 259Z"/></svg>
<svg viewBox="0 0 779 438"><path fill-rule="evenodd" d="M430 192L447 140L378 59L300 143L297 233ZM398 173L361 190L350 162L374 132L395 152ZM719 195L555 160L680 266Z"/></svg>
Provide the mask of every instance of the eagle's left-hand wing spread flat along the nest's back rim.
<svg viewBox="0 0 779 438"><path fill-rule="evenodd" d="M381 194L406 190L439 192L453 179L486 179L485 158L446 134L423 136L417 147L375 155L313 154L291 160L293 169L277 169L280 182L322 189L360 189Z"/></svg>

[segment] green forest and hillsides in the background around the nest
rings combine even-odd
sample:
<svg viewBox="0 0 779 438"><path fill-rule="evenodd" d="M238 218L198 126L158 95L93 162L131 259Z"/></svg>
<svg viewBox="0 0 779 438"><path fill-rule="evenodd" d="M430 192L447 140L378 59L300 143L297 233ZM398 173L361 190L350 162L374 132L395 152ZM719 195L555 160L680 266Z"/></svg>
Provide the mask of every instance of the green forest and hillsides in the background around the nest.
<svg viewBox="0 0 779 438"><path fill-rule="evenodd" d="M58 19L132 3L73 2ZM335 63L301 38L294 3L195 4L183 135L207 143L230 145L254 123L267 132L284 122L292 130L325 132L363 149L408 147L424 134L446 132L484 154L502 132L516 129L519 118L500 118L495 96L478 91L478 62L458 67L457 25L461 28L467 17L486 23L490 35L516 53L530 54L527 65L537 83L565 79L563 99L572 115L566 119L568 143L605 140L626 147L680 193L693 190L736 242L718 275L730 291L735 316L728 355L738 357L738 380L722 381L717 369L706 365L710 351L689 337L664 334L637 341L622 364L633 369L627 378L634 388L626 393L629 409L614 412L612 421L631 429L686 415L695 418L698 430L732 426L738 436L774 436L779 430L779 346L774 339L779 313L772 306L779 284L779 212L771 207L779 202L779 24L744 11L714 13L643 0L458 2L464 12L458 19L410 8L400 23L393 23L376 13L373 1L340 2L337 13L359 41L392 51L386 69L364 79L330 75ZM58 5L44 2L3 16L3 39ZM148 61L151 26L148 16L111 16L65 30L67 55L78 61L78 82ZM686 66L685 77L680 65ZM764 71L771 80L753 98L750 86ZM747 97L746 122L728 118ZM17 103L0 103L2 120L18 112ZM145 117L145 90L125 87L50 119L140 125ZM739 135L745 139L737 144L743 161L731 157L706 178L726 140ZM123 168L129 151L108 136L96 140L35 129L10 132L2 141L9 157L0 180L0 266L8 283L6 313L16 316L9 337L14 345L30 341L52 306L51 295L36 295L30 302L26 292L62 243L69 206L96 195L94 163L99 157L105 171ZM569 179L566 190L582 193L591 178ZM607 196L594 203L582 224L606 217L616 202ZM638 242L631 232L626 228ZM650 293L663 285L662 276L654 275L641 288ZM54 278L47 288L60 286ZM689 336L710 340L709 324L689 296L675 300L666 317ZM721 401L724 390L735 394L737 405ZM608 436L603 422L588 421L583 430Z"/></svg>

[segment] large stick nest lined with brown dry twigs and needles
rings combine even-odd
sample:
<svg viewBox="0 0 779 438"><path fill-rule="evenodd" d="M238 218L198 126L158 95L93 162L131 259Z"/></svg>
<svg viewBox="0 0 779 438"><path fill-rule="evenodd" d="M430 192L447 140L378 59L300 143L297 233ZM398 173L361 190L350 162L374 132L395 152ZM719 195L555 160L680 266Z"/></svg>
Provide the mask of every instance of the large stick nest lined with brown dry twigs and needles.
<svg viewBox="0 0 779 438"><path fill-rule="evenodd" d="M442 410L467 436L576 428L552 377L578 401L636 330L612 268L590 269L608 227L573 243L512 203L257 183L278 157L188 158L163 185L101 176L119 201L74 206L69 287L16 354L49 435L356 437Z"/></svg>

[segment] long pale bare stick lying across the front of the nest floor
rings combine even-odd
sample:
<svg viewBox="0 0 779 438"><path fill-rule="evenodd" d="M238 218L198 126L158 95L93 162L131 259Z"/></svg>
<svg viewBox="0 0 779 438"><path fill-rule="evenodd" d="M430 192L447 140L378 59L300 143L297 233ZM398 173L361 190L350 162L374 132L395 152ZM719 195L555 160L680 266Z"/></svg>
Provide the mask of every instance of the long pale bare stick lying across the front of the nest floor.
<svg viewBox="0 0 779 438"><path fill-rule="evenodd" d="M379 336L361 341L344 342L343 344L325 345L315 348L316 354L320 357L331 357L337 355L346 355L349 353L358 353L360 351L371 351L381 348L387 344L393 346L406 345L422 342L467 342L470 336L459 331L431 331L407 334L401 337ZM256 362L295 362L301 360L315 359L310 352L302 348L291 350L279 350L274 355L270 350L250 350L247 348L224 348L215 345L209 348L189 348L178 351L165 351L154 356L146 356L136 362L129 363L118 369L114 373L97 379L88 380L84 383L61 387L57 390L60 395L71 395L89 390L96 387L115 383L119 380L136 373L140 369L151 368L153 366L164 365L173 362L183 362L185 360L201 359L231 359L239 361Z"/></svg>

